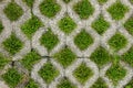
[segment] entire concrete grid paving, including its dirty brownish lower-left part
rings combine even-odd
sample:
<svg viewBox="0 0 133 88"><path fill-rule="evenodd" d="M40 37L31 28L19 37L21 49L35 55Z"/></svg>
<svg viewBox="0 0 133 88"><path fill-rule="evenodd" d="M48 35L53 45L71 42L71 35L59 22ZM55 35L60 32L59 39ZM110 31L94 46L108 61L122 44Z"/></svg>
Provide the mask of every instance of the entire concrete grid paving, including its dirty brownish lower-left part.
<svg viewBox="0 0 133 88"><path fill-rule="evenodd" d="M23 14L17 21L10 21L3 12L8 3L12 1L14 1L23 10ZM96 0L89 0L94 8L94 11L85 20L81 19L79 14L73 10L73 6L82 0L71 0L69 3L65 3L63 0L57 0L57 3L60 4L61 10L52 19L41 13L39 7L43 1L44 0L34 0L32 8L28 7L22 0L3 0L0 2L0 20L2 22L2 25L4 26L3 31L0 34L0 53L10 59L10 62L0 70L1 76L3 76L10 68L16 68L18 73L23 76L23 78L20 80L20 82L17 84L14 88L25 88L25 85L30 79L37 82L39 88L58 88L58 85L62 81L62 78L66 78L75 87L59 88L91 88L99 78L102 78L104 84L106 84L108 87L104 88L133 88L125 87L131 80L133 80L133 66L131 64L122 59L117 62L119 65L126 70L126 74L117 81L116 85L114 85L113 80L109 76L106 76L106 72L111 68L111 66L113 66L113 63L108 62L99 67L99 65L93 61L93 58L91 58L92 53L94 53L95 50L100 46L112 56L122 56L132 47L133 36L123 25L133 14L133 4L130 2L130 0L119 0L122 4L129 7L129 11L125 12L124 16L119 21L113 20L112 15L106 11L106 9L109 9L109 7L111 7L117 0L108 0L104 4L100 4ZM29 19L31 19L32 14L38 16L38 19L42 22L42 26L40 26L29 38L27 34L23 33L23 31L21 30L21 25L24 24ZM103 34L99 34L91 26L92 23L101 14L104 20L110 24L110 26ZM76 25L76 28L72 30L69 34L61 31L58 24L65 15L69 15ZM40 43L41 36L49 31L49 28L59 40L58 44L55 44L53 48L50 48L50 51ZM74 38L83 30L93 38L93 43L86 46L86 48L80 50L79 46L74 43ZM22 48L20 51L17 51L16 54L11 54L2 45L3 42L11 36L12 33L23 43ZM122 34L124 38L126 38L127 43L124 47L114 52L114 50L109 44L109 40L116 33ZM66 66L63 66L64 63L60 63L58 59L54 59L54 55L63 48L68 48L75 55L75 58L73 61L70 59L71 62L69 64L65 63ZM40 59L35 63L32 63L31 69L29 70L20 63L20 61L23 59L23 57L33 50L38 52L38 54L40 55ZM42 76L40 76L39 72L49 62L52 64L55 70L59 72L59 75L57 75L48 84L47 80L44 80ZM86 68L90 68L93 75L90 76L85 80L85 82L82 84L79 81L79 79L76 79L73 73L83 63L85 64ZM13 87L11 87L9 84L6 82L3 78L1 78L0 88Z"/></svg>

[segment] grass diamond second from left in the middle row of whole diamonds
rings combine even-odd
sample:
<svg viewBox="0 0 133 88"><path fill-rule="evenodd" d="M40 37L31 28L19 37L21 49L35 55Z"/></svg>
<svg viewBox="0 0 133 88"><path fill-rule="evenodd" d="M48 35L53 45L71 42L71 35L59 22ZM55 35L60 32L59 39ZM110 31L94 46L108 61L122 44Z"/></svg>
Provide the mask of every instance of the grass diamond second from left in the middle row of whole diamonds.
<svg viewBox="0 0 133 88"><path fill-rule="evenodd" d="M59 43L58 36L51 31L51 29L48 29L48 31L42 34L40 38L41 45L47 47L47 50L50 52L55 45Z"/></svg>

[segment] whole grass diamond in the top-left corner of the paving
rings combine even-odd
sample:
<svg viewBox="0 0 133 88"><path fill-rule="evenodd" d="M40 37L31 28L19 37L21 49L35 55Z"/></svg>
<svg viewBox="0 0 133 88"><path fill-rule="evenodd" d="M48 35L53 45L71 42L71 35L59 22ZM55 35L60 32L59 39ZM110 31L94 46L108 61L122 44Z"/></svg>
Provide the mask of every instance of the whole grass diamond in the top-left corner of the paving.
<svg viewBox="0 0 133 88"><path fill-rule="evenodd" d="M3 12L10 21L17 21L23 14L22 8L16 2L9 2Z"/></svg>

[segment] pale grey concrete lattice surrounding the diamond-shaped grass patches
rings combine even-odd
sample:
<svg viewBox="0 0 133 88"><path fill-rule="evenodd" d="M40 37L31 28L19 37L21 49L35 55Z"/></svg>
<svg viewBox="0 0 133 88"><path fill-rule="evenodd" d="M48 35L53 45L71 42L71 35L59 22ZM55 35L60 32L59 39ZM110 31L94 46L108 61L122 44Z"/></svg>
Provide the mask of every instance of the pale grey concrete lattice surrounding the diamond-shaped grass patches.
<svg viewBox="0 0 133 88"><path fill-rule="evenodd" d="M53 19L48 19L47 16L41 14L41 12L39 10L39 4L43 0L35 0L32 11L33 11L33 14L37 15L43 22L44 26L40 28L34 33L34 35L32 36L31 40L29 40L22 33L22 31L20 29L20 26L27 20L29 20L31 18L31 11L30 11L31 9L29 7L27 7L27 4L24 2L22 2L22 0L14 0L14 1L24 11L23 15L16 22L11 22L3 13L4 7L9 2L11 2L11 0L3 0L2 2L0 2L0 20L2 21L3 26L4 26L4 31L0 34L0 46L1 46L0 52L4 53L6 56L10 56L9 53L2 47L1 43L6 38L8 38L12 32L16 33L18 38L20 38L24 43L24 47L19 53L17 53L14 56L11 56L11 58L14 62L17 62L16 66L19 69L19 72L27 73L27 75L28 75L28 70L22 68L22 66L19 64L18 59L21 59L23 57L23 55L28 54L31 51L31 48L35 48L39 52L39 54L42 56L42 59L33 66L32 72L31 72L31 77L34 79L34 81L39 82L40 88L55 88L55 86L60 82L60 79L64 76L68 77L71 82L75 84L78 86L78 88L91 87L98 80L99 77L101 77L101 78L103 78L103 80L105 80L109 88L114 88L111 79L109 79L105 76L105 72L111 67L112 64L111 63L106 64L101 69L99 69L96 64L94 62L92 62L91 59L89 59L89 57L99 46L103 46L110 54L112 54L113 51L109 46L108 41L116 32L122 33L129 41L127 45L117 52L119 55L122 55L125 52L127 52L127 50L130 50L130 47L133 45L133 36L130 35L129 32L123 28L123 23L125 23L125 21L133 14L133 6L130 3L129 0L120 0L123 4L125 4L130 8L130 11L119 22L112 20L111 15L106 12L106 9L111 4L113 4L116 0L108 0L108 2L104 3L103 6L100 6L96 0L90 0L91 4L94 7L95 11L88 20L81 20L79 18L79 15L72 10L73 4L81 0L72 0L68 4L65 4L62 0L57 0L57 2L61 6L61 11ZM74 31L72 31L72 33L69 35L65 35L62 31L60 31L60 29L58 26L58 22L65 15L65 13L68 13L78 25L78 28ZM108 22L110 22L110 25L111 25L103 35L98 34L96 31L91 28L91 23L94 20L96 20L101 13L103 14L104 19ZM41 37L41 35L43 33L47 32L48 28L51 28L52 32L54 34L57 34L58 38L60 40L60 43L50 53L48 53L47 48L44 48L39 42L39 38ZM92 45L90 45L85 51L80 51L73 42L74 36L78 33L80 33L82 29L85 29L85 31L89 34L91 34L91 36L94 40L94 43ZM60 75L50 85L47 85L43 81L43 79L38 75L38 72L40 70L40 68L48 61L48 59L45 59L44 56L51 56L51 55L55 54L61 48L63 48L65 45L68 45L71 48L71 51L76 54L76 56L78 56L76 61L71 66L69 66L68 68L64 69L55 59L50 58L53 66L55 66L57 69L60 70ZM72 75L72 72L82 62L86 63L86 66L90 67L92 69L92 72L94 73L94 75L85 82L84 86L82 86ZM123 88L133 77L133 68L129 64L121 61L120 65L127 70L127 74L122 80L119 81L119 85L115 88ZM10 67L11 67L11 65L7 65L4 67L4 69L0 73L0 75L4 74L7 72L7 69ZM17 88L23 88L23 84L24 82L20 84ZM0 80L0 88L9 88L9 87L8 87L8 85L4 84L4 81Z"/></svg>

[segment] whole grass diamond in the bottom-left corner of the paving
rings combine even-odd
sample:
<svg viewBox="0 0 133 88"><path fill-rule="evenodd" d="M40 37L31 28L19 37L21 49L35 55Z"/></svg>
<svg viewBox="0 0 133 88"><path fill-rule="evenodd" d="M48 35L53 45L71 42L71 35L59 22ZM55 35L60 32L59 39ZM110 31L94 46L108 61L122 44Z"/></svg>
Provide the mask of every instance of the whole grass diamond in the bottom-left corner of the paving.
<svg viewBox="0 0 133 88"><path fill-rule="evenodd" d="M9 68L8 72L2 75L2 78L10 86L10 88L16 88L22 79L22 75L20 75L17 69Z"/></svg>

